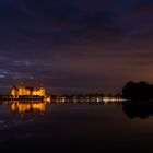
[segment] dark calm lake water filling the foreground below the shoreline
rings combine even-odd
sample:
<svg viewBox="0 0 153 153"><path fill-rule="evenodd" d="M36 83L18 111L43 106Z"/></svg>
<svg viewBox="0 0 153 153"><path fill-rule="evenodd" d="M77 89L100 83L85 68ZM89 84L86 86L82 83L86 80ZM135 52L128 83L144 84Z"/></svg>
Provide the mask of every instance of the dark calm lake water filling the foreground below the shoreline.
<svg viewBox="0 0 153 153"><path fill-rule="evenodd" d="M0 105L0 151L153 152L153 117L143 108L121 103L4 103Z"/></svg>

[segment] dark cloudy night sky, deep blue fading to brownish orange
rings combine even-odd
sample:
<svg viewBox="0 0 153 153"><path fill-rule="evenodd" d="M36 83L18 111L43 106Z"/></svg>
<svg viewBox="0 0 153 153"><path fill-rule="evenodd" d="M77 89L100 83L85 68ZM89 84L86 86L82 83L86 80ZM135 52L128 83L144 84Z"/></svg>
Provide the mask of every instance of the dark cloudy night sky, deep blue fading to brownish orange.
<svg viewBox="0 0 153 153"><path fill-rule="evenodd" d="M0 92L118 93L153 83L152 0L0 0Z"/></svg>

